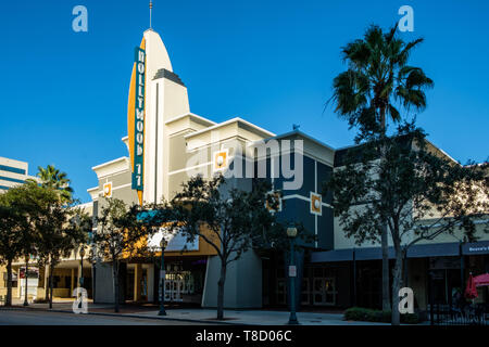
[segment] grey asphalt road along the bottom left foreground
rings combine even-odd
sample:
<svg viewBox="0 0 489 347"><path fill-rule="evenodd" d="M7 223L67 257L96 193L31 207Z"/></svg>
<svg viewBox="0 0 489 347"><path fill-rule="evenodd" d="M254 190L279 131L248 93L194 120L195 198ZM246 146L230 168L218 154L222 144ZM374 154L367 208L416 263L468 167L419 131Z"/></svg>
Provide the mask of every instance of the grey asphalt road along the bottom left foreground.
<svg viewBox="0 0 489 347"><path fill-rule="evenodd" d="M111 317L98 314L75 314L34 310L0 310L0 325L205 325L200 323Z"/></svg>

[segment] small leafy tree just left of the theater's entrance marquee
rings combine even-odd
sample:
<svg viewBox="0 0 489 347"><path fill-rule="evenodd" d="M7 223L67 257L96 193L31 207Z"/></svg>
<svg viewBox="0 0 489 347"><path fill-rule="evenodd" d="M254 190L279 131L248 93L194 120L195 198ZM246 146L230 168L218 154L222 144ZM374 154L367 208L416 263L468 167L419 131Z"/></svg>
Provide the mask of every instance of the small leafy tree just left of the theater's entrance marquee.
<svg viewBox="0 0 489 347"><path fill-rule="evenodd" d="M98 230L93 234L97 247L96 256L108 259L112 264L114 291L114 311L118 312L118 270L123 258L146 254L148 246L143 241L150 230L140 219L142 209L138 205L129 208L118 198L106 198L97 218Z"/></svg>

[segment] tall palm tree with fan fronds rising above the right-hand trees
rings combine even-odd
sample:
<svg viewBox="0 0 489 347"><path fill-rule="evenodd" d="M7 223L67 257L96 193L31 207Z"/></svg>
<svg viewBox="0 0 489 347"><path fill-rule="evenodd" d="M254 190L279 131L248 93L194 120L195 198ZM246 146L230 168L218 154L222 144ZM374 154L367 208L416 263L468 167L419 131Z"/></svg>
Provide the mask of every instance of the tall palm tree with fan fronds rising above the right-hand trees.
<svg viewBox="0 0 489 347"><path fill-rule="evenodd" d="M360 142L368 134L385 136L387 117L401 120L401 107L408 113L426 107L425 90L434 82L422 68L408 64L412 50L423 38L404 42L397 35L397 25L388 33L377 25L367 28L363 39L341 49L348 69L333 81L331 101L335 112L346 118L350 127L359 127ZM384 157L380 150L380 158ZM387 227L383 228L383 310L390 310L389 259Z"/></svg>

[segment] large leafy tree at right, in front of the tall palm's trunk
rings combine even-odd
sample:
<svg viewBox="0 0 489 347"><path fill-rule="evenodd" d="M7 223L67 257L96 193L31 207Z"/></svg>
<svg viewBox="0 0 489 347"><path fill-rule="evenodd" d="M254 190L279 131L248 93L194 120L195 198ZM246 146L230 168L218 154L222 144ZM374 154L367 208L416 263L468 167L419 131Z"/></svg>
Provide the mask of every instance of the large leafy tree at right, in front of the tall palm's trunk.
<svg viewBox="0 0 489 347"><path fill-rule="evenodd" d="M461 230L475 239L475 220L489 215L488 163L462 166L437 151L412 124L394 137L353 147L326 184L347 236L378 242L388 226L396 253L392 324L399 324L403 258L421 240ZM384 149L384 160L378 149Z"/></svg>

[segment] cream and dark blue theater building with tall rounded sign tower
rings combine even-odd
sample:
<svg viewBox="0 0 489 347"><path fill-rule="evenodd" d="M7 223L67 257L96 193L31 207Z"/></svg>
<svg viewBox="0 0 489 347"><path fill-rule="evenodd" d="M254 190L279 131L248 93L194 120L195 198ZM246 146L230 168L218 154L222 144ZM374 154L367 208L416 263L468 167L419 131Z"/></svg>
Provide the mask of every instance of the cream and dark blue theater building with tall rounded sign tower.
<svg viewBox="0 0 489 347"><path fill-rule="evenodd" d="M297 254L298 301L303 307L378 307L379 245L359 247L346 239L334 217L330 194L323 194L323 182L342 166L347 149L335 150L299 130L275 134L242 118L215 123L191 113L185 81L173 69L160 35L152 29L143 33L134 57L128 130L121 139L123 156L92 167L98 178L98 185L88 190L93 216L106 197L127 204L171 200L181 183L197 174L211 177L227 172L226 187L243 190L252 188L253 178L265 178L274 190L283 191L278 218L300 222L316 236ZM260 163L265 163L262 168ZM260 174L261 169L265 174ZM250 171L253 178L246 175ZM480 226L485 222L481 220ZM460 245L447 236L410 249L409 285L419 308L426 308L429 271L438 275L434 291L446 298L456 278L465 281L472 269L488 271L489 236L481 236L475 245ZM158 246L161 237L159 233L149 243ZM225 307L287 305L286 262L284 254L273 248L248 252L233 262L227 270ZM110 264L99 259L91 266L95 301L112 303ZM181 235L171 237L165 270L165 301L216 306L220 262L203 240L189 244ZM160 269L154 259L123 261L120 272L121 300L158 301Z"/></svg>

